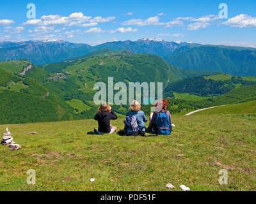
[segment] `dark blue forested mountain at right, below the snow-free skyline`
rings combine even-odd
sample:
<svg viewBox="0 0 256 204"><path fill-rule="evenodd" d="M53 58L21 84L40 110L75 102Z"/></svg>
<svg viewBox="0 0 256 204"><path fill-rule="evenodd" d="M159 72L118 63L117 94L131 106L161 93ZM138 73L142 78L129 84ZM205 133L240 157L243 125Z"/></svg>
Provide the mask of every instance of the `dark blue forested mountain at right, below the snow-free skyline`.
<svg viewBox="0 0 256 204"><path fill-rule="evenodd" d="M256 49L214 45L181 47L164 57L184 69L212 70L236 76L256 76Z"/></svg>

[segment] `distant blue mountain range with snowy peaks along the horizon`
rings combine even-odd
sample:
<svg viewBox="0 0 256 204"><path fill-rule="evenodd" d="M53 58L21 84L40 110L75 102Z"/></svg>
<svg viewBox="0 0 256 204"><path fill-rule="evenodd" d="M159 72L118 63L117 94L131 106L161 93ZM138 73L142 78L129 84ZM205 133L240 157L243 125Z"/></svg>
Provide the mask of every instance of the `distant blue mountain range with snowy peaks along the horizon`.
<svg viewBox="0 0 256 204"><path fill-rule="evenodd" d="M236 76L256 76L256 49L223 45L168 42L143 38L113 41L97 46L67 41L24 41L0 43L0 61L27 59L35 65L61 62L102 49L131 50L133 54L153 54L182 69L211 70Z"/></svg>

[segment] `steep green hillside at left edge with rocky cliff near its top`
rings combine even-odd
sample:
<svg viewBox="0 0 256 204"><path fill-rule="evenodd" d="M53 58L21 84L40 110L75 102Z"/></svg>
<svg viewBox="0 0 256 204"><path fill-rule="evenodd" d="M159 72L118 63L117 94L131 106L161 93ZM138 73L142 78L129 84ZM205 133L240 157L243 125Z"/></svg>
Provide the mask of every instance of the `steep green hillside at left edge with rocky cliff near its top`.
<svg viewBox="0 0 256 204"><path fill-rule="evenodd" d="M58 94L45 87L42 82L47 80L48 73L32 66L24 76L20 76L17 73L23 70L27 61L6 63L8 66L0 68L0 124L83 118L74 112L72 106L62 101Z"/></svg>

